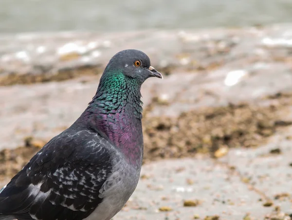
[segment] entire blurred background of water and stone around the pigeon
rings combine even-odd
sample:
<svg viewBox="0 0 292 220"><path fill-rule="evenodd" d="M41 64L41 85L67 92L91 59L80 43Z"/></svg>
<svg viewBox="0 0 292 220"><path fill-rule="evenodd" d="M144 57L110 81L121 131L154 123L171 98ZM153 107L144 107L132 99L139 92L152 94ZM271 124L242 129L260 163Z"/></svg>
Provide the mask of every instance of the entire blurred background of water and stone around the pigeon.
<svg viewBox="0 0 292 220"><path fill-rule="evenodd" d="M291 0L1 0L0 186L139 49L144 165L114 220L291 220Z"/></svg>

